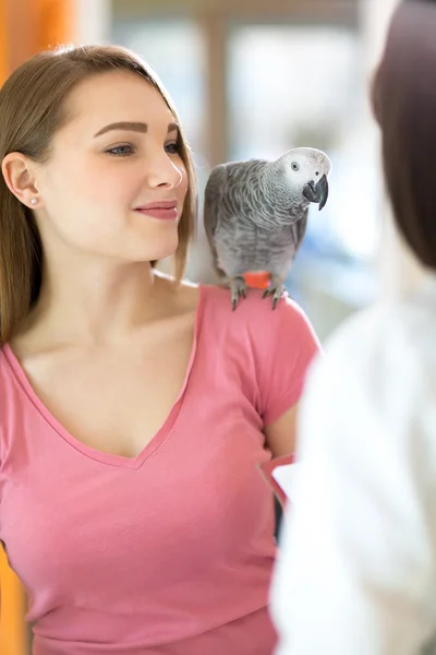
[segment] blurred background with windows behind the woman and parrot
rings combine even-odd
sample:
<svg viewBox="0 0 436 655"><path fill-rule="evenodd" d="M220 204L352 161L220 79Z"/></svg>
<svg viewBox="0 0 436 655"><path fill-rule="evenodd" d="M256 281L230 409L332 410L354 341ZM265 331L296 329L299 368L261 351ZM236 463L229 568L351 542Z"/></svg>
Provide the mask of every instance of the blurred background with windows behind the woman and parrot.
<svg viewBox="0 0 436 655"><path fill-rule="evenodd" d="M312 211L287 281L325 340L355 310L422 275L392 228L367 100L396 1L0 0L0 83L60 43L136 50L175 100L201 199L220 162L274 158L299 145L327 151L330 199ZM187 277L215 279L202 221ZM25 597L4 552L0 591L0 653L27 653Z"/></svg>

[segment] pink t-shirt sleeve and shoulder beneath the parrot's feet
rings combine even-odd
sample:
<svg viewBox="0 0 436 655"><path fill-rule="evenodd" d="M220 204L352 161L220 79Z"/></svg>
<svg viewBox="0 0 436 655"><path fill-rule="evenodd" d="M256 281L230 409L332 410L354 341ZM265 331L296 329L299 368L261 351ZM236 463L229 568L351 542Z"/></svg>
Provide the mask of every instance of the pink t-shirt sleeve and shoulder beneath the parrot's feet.
<svg viewBox="0 0 436 655"><path fill-rule="evenodd" d="M299 401L306 370L319 352L314 330L296 302L283 296L276 309L259 289L247 289L233 311L230 291L203 286L204 344L237 366L245 389L254 390L264 425Z"/></svg>

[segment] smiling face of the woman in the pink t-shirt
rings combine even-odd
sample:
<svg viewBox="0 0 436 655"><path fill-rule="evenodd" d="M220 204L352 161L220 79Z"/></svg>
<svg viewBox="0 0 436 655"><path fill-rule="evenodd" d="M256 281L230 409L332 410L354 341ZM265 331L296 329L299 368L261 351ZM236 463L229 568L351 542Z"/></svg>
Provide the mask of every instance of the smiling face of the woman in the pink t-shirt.
<svg viewBox="0 0 436 655"><path fill-rule="evenodd" d="M187 175L159 92L134 73L106 72L82 82L66 109L35 171L43 243L131 262L172 254Z"/></svg>

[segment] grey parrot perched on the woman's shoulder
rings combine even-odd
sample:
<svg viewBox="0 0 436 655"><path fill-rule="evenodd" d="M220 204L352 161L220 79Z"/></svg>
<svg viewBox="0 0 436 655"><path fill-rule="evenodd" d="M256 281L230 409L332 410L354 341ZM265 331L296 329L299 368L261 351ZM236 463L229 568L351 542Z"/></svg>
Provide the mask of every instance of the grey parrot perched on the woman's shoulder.
<svg viewBox="0 0 436 655"><path fill-rule="evenodd" d="M274 162L229 162L210 172L204 225L214 263L227 277L233 309L246 296L244 274L269 273L264 297L272 309L304 238L311 203L328 198L330 160L322 151L298 147Z"/></svg>

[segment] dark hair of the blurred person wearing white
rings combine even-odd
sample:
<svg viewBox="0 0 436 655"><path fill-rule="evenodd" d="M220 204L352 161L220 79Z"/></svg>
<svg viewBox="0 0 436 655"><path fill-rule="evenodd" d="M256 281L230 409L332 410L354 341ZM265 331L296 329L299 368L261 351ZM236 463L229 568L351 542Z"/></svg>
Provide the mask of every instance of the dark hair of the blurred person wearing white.
<svg viewBox="0 0 436 655"><path fill-rule="evenodd" d="M372 100L398 228L436 269L436 3L404 0L395 11Z"/></svg>

